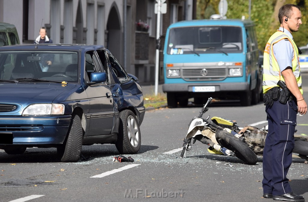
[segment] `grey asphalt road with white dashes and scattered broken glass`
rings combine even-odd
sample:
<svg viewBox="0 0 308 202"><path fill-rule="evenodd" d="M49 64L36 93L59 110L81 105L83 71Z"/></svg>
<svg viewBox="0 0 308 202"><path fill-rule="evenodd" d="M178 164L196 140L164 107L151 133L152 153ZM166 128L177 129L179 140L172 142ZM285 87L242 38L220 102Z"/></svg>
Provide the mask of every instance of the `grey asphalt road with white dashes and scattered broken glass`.
<svg viewBox="0 0 308 202"><path fill-rule="evenodd" d="M308 76L303 76L308 92ZM304 94L308 100L307 93ZM246 165L236 157L207 152L196 142L180 158L189 121L201 106L147 111L142 123L140 152L135 162L116 163L114 145L83 146L88 160L61 163L56 149L30 148L23 155L0 150L0 201L269 201L262 198L262 157ZM206 115L237 121L239 126L266 125L263 103L241 107L238 101L213 103ZM205 116L206 116L205 115ZM297 130L307 134L307 116L298 115ZM126 155L127 156L127 155ZM289 170L293 191L308 200L308 164L294 159Z"/></svg>

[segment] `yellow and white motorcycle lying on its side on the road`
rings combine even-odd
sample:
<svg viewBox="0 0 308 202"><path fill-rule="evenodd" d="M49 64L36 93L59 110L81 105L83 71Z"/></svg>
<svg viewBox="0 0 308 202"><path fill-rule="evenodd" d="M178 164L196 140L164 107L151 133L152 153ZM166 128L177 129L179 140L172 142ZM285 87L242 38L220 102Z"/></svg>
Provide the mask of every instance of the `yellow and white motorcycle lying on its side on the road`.
<svg viewBox="0 0 308 202"><path fill-rule="evenodd" d="M199 116L190 121L180 157L185 156L186 151L191 149L192 140L193 144L198 140L209 145L210 153L236 156L246 164L256 164L257 155L263 154L267 135L265 128L258 129L253 126L239 128L236 122L224 118L213 117L211 121L208 121L209 116L206 119L202 118L203 114L209 110L208 105L211 101L212 98L209 98ZM305 163L307 163L307 138L296 134L294 138L293 157L306 159Z"/></svg>

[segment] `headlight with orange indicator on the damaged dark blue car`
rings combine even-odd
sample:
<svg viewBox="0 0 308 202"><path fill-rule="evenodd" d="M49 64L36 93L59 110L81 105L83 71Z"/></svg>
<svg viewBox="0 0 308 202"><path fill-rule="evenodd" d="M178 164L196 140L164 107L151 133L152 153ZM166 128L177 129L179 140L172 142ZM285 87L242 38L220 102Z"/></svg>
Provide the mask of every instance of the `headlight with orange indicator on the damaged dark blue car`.
<svg viewBox="0 0 308 202"><path fill-rule="evenodd" d="M63 115L63 104L32 104L26 107L22 115Z"/></svg>

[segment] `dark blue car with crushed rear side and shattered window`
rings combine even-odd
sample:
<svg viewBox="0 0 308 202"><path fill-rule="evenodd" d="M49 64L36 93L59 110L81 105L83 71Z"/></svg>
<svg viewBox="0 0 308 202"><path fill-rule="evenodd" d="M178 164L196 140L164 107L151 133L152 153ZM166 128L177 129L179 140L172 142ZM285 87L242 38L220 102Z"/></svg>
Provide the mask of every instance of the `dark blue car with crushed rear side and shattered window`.
<svg viewBox="0 0 308 202"><path fill-rule="evenodd" d="M144 118L138 79L104 46L0 47L0 149L57 148L76 162L82 145L115 144L137 153Z"/></svg>

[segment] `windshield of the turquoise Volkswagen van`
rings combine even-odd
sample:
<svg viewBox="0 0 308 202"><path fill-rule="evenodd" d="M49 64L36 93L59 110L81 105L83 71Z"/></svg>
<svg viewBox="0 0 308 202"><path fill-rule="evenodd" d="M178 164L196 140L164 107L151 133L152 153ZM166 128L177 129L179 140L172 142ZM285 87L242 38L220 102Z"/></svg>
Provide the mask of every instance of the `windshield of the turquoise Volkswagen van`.
<svg viewBox="0 0 308 202"><path fill-rule="evenodd" d="M241 53L243 40L241 27L197 26L170 30L167 53Z"/></svg>

